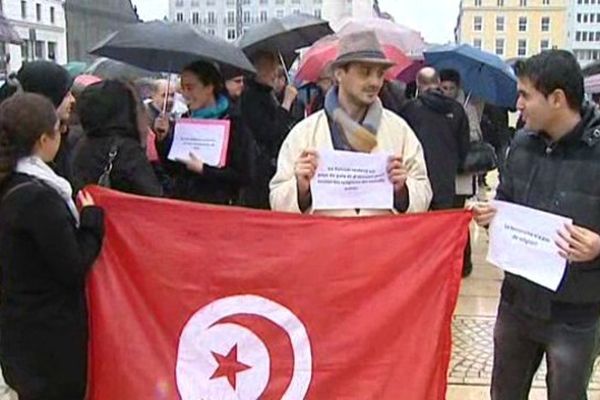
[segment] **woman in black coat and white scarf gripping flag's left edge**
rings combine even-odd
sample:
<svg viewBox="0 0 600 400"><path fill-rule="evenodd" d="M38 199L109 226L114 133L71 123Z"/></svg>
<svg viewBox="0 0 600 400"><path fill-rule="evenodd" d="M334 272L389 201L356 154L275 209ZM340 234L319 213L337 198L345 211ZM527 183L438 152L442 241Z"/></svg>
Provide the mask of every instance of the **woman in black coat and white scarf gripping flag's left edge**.
<svg viewBox="0 0 600 400"><path fill-rule="evenodd" d="M0 364L20 400L82 400L84 282L100 252L102 210L47 165L60 145L53 105L17 94L0 105Z"/></svg>

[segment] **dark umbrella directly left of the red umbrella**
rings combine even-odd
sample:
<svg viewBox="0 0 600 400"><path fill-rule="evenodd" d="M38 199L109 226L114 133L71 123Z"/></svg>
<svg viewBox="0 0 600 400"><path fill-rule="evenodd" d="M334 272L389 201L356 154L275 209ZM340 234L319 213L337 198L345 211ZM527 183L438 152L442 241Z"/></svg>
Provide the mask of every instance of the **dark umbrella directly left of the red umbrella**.
<svg viewBox="0 0 600 400"><path fill-rule="evenodd" d="M278 52L287 63L296 58L296 50L333 33L329 22L309 14L293 14L273 18L269 22L250 28L236 42L247 55L258 50ZM288 65L289 66L289 65Z"/></svg>

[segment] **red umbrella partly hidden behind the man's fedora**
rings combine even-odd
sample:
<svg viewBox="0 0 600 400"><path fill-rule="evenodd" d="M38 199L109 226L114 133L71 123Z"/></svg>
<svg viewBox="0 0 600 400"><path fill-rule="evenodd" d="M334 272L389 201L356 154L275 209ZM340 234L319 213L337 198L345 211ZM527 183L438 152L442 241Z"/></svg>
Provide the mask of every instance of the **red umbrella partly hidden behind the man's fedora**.
<svg viewBox="0 0 600 400"><path fill-rule="evenodd" d="M396 79L404 69L412 65L413 60L397 46L391 43L382 43L382 47L386 57L396 63L387 70L386 79ZM316 42L302 57L296 73L296 81L316 82L327 66L337 58L338 50L339 39L336 36L326 36Z"/></svg>

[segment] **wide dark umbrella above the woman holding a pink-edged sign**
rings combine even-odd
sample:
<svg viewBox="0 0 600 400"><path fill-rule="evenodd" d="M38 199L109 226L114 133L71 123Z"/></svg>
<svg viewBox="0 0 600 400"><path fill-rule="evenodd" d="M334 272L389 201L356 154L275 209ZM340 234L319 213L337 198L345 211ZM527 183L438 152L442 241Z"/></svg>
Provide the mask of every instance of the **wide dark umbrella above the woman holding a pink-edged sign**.
<svg viewBox="0 0 600 400"><path fill-rule="evenodd" d="M187 24L151 21L130 25L98 43L90 54L112 58L150 71L178 73L194 61L219 64L223 70L255 72L244 53L231 43Z"/></svg>

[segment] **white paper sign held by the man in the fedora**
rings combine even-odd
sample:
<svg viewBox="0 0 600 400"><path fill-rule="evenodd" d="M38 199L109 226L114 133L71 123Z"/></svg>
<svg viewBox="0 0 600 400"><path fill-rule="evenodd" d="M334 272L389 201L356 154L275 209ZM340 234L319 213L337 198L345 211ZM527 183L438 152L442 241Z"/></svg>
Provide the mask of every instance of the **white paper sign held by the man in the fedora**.
<svg viewBox="0 0 600 400"><path fill-rule="evenodd" d="M349 151L319 152L311 181L315 210L394 208L394 187L388 179L388 154Z"/></svg>

